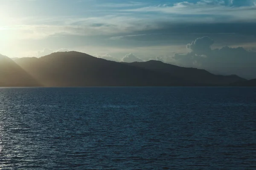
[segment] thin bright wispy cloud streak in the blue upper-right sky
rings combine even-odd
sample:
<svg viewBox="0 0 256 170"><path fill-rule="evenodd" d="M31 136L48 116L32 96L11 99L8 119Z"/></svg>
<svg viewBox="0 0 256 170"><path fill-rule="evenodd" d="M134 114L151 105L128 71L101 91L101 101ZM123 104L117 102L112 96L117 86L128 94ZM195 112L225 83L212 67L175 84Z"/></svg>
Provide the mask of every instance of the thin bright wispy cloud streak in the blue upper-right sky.
<svg viewBox="0 0 256 170"><path fill-rule="evenodd" d="M125 11L134 11L134 12L154 12L162 14L176 14L180 15L177 18L186 18L188 22L191 22L190 19L196 19L192 16L200 16L200 19L209 19L211 21L219 20L254 20L253 17L256 14L256 6L253 3L249 3L245 0L244 4L240 6L227 6L223 0L199 0L195 3L190 3L187 1L174 3L172 5L158 5L158 6L147 6L142 8L132 8L126 9ZM232 4L234 3L233 1ZM250 1L251 2L251 1ZM237 15L239 13L239 15ZM222 17L220 17L222 16ZM178 20L177 20L178 21ZM193 21L193 20L192 20ZM207 21L207 20L205 20Z"/></svg>

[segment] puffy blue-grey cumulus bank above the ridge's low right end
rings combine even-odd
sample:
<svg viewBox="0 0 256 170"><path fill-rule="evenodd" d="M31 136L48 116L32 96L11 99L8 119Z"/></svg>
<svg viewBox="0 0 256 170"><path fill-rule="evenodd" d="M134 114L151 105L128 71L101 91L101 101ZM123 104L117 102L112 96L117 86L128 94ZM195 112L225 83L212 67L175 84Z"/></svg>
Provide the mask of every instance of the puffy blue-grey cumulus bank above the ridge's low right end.
<svg viewBox="0 0 256 170"><path fill-rule="evenodd" d="M191 52L175 54L172 59L178 65L204 68L220 74L237 74L245 78L256 78L256 52L242 47L225 46L212 50L213 40L201 37L186 45Z"/></svg>

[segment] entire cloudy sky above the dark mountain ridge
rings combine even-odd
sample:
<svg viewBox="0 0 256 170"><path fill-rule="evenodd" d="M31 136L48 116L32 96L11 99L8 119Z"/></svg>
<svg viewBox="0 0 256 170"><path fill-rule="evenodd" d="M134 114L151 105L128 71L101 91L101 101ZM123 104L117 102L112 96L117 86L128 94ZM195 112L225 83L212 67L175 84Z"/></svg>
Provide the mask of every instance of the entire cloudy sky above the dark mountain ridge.
<svg viewBox="0 0 256 170"><path fill-rule="evenodd" d="M0 54L80 51L256 78L256 0L0 0Z"/></svg>

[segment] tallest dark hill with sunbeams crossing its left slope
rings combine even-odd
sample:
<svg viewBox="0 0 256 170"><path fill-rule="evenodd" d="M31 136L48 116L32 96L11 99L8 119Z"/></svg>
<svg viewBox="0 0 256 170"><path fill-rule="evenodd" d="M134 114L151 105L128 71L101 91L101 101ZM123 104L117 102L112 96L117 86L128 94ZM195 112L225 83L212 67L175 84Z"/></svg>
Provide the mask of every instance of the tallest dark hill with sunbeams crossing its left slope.
<svg viewBox="0 0 256 170"><path fill-rule="evenodd" d="M168 73L126 65L70 51L15 62L44 86L172 86L192 85Z"/></svg>

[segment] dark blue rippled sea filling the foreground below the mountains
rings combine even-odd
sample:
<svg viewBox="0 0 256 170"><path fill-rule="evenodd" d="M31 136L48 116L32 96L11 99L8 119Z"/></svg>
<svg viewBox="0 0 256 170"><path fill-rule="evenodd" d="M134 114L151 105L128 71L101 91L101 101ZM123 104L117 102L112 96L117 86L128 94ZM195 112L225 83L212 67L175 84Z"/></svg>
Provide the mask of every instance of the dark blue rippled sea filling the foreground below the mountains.
<svg viewBox="0 0 256 170"><path fill-rule="evenodd" d="M256 88L0 88L3 170L255 170Z"/></svg>

